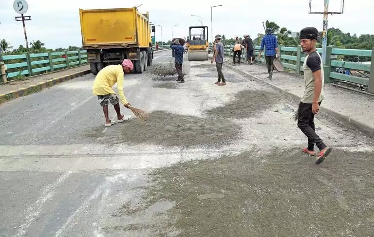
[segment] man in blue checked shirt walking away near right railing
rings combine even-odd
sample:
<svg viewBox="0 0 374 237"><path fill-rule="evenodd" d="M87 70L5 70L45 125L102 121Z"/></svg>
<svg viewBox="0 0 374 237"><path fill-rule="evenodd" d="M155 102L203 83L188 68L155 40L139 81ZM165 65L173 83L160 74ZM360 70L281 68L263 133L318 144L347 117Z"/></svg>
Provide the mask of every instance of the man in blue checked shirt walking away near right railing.
<svg viewBox="0 0 374 237"><path fill-rule="evenodd" d="M267 66L267 72L269 73L269 79L273 78L273 70L274 70L274 58L278 51L278 39L277 36L273 35L273 30L271 28L266 29L266 35L263 36L261 41L261 48L260 48L260 55L259 59L261 58L261 53L263 51L263 47L265 46L265 61Z"/></svg>

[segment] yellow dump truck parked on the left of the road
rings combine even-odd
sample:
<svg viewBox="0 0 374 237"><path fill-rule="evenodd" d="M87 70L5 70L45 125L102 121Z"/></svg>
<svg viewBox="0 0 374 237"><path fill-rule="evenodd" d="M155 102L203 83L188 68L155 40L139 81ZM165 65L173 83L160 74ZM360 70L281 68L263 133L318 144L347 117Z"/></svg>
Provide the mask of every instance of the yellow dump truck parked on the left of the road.
<svg viewBox="0 0 374 237"><path fill-rule="evenodd" d="M91 72L96 75L109 64L131 59L131 73L143 73L152 65L153 51L149 13L141 14L136 7L116 9L79 9L83 49Z"/></svg>

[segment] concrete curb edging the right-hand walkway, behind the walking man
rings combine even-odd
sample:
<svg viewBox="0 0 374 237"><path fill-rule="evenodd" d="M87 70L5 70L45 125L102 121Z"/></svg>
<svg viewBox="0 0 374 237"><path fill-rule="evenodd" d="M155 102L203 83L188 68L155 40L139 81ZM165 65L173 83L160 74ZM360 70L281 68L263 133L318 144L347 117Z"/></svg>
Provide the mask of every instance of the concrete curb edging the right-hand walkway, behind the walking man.
<svg viewBox="0 0 374 237"><path fill-rule="evenodd" d="M289 91L281 89L280 87L275 86L275 85L273 85L269 82L266 82L266 81L262 80L261 78L259 78L257 76L251 75L250 73L243 72L242 70L237 69L237 68L235 68L231 65L225 64L225 66L230 68L231 70L237 72L237 73L242 74L243 76L249 76L249 77L255 78L255 79L261 81L262 83L271 86L273 89L281 92L282 94L287 95L287 96L291 96L295 100L300 100L301 99L301 97L299 95L296 95L296 94L293 94ZM353 118L350 118L349 116L338 113L338 112L334 111L333 109L327 109L323 106L320 107L320 111L324 114L327 114L328 116L331 116L331 117L343 122L346 125L349 125L349 126L352 126L356 129L358 129L359 131L361 131L362 133L364 133L365 135L367 135L369 137L374 137L374 127L370 127L369 125L361 123L361 122L359 122L359 121L357 121Z"/></svg>

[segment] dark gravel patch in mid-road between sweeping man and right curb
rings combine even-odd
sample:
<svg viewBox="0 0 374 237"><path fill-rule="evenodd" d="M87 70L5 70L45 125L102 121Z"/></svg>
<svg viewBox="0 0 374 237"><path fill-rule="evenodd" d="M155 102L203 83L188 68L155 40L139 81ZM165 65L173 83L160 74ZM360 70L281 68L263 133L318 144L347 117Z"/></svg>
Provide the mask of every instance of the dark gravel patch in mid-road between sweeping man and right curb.
<svg viewBox="0 0 374 237"><path fill-rule="evenodd" d="M272 91L245 90L235 94L235 99L224 106L206 110L213 117L242 119L253 117L273 105L282 103L285 97Z"/></svg>

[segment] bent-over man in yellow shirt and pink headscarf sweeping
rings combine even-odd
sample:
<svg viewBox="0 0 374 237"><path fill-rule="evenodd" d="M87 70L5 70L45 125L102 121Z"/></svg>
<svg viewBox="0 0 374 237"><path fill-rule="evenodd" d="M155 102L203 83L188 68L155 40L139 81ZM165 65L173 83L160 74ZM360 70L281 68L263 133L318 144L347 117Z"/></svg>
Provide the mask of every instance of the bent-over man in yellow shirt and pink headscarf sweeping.
<svg viewBox="0 0 374 237"><path fill-rule="evenodd" d="M125 59L120 65L109 65L100 70L97 73L95 80L93 82L93 94L97 95L99 99L99 104L103 108L105 116L105 127L111 127L115 121L109 119L108 105L111 103L117 113L117 122L121 123L127 118L121 114L121 109L119 107L119 100L112 87L117 83L117 92L122 104L128 109L130 109L130 103L127 102L126 97L123 93L123 77L125 73L130 73L133 69L131 60Z"/></svg>

